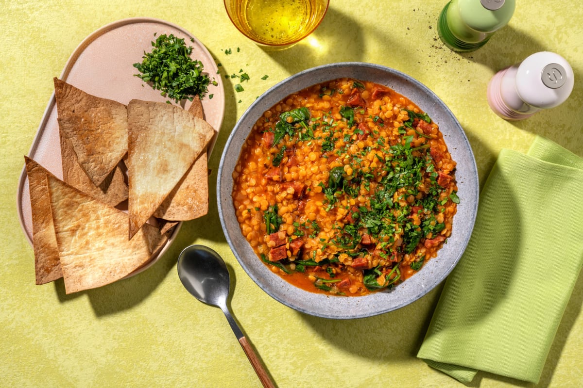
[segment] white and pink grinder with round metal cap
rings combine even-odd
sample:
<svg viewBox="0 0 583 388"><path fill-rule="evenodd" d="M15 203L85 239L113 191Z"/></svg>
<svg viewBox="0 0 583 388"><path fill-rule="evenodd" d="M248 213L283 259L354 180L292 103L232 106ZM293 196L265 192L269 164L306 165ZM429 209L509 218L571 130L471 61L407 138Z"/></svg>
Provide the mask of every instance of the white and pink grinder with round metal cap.
<svg viewBox="0 0 583 388"><path fill-rule="evenodd" d="M522 120L562 104L573 84L573 69L567 60L541 51L494 74L488 84L488 104L505 120Z"/></svg>

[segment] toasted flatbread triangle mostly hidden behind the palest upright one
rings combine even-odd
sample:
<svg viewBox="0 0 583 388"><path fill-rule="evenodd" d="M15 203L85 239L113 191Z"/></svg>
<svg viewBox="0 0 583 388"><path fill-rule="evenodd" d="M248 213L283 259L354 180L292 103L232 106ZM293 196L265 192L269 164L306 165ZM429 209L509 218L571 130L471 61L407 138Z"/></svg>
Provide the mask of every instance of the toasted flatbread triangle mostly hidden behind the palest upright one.
<svg viewBox="0 0 583 388"><path fill-rule="evenodd" d="M196 95L188 108L196 118L204 119L201 99ZM157 218L186 221L202 217L209 209L209 171L206 149L196 158L174 190L154 212Z"/></svg>

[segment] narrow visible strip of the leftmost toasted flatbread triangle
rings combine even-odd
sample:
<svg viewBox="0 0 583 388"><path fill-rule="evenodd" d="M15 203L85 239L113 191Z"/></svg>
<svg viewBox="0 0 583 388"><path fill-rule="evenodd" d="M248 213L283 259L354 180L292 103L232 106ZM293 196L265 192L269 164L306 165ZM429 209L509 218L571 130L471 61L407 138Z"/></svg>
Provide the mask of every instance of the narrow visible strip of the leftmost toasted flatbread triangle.
<svg viewBox="0 0 583 388"><path fill-rule="evenodd" d="M29 177L36 284L45 284L63 276L48 194L47 175L51 173L27 156L24 163Z"/></svg>

